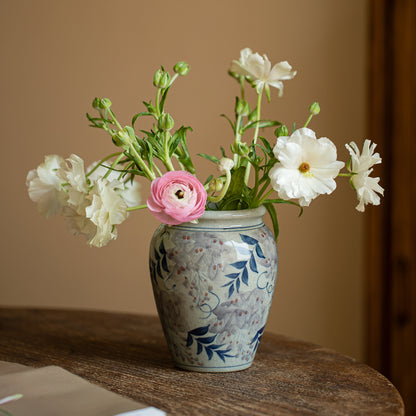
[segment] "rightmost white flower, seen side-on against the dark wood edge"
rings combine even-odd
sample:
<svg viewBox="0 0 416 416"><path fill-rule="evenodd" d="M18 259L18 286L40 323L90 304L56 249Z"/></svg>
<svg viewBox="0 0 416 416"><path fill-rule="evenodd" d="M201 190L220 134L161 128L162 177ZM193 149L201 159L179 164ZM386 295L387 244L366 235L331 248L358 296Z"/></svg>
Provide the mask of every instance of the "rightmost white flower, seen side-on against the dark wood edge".
<svg viewBox="0 0 416 416"><path fill-rule="evenodd" d="M378 153L374 153L376 144L371 143L370 140L365 140L361 153L355 142L345 146L351 155L348 170L353 173L351 183L357 191L358 205L356 209L363 212L367 204L380 204L380 196L377 193L384 194L384 189L378 184L380 178L370 176L373 171L372 167L381 163L381 157Z"/></svg>

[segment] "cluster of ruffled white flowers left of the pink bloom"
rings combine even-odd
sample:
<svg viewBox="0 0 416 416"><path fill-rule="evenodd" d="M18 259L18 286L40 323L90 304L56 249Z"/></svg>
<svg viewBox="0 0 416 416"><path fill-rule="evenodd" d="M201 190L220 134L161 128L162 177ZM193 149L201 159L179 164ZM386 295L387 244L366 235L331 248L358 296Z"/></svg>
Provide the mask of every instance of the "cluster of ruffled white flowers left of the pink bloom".
<svg viewBox="0 0 416 416"><path fill-rule="evenodd" d="M108 175L107 175L108 174ZM121 182L119 174L95 163L84 170L84 161L49 155L27 175L30 198L48 218L62 212L74 235L84 235L88 244L102 247L117 237L116 225L128 216L128 207L140 203L139 183Z"/></svg>

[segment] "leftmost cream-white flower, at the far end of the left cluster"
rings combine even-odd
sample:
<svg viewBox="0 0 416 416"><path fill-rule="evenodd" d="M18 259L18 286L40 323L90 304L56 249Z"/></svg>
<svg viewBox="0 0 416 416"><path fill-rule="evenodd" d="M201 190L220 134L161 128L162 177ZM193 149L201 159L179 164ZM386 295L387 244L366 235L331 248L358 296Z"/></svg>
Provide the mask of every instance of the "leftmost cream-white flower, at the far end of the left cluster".
<svg viewBox="0 0 416 416"><path fill-rule="evenodd" d="M67 196L57 172L65 161L57 155L45 156L45 162L31 170L26 178L29 197L38 204L38 211L46 218L57 214L65 204Z"/></svg>

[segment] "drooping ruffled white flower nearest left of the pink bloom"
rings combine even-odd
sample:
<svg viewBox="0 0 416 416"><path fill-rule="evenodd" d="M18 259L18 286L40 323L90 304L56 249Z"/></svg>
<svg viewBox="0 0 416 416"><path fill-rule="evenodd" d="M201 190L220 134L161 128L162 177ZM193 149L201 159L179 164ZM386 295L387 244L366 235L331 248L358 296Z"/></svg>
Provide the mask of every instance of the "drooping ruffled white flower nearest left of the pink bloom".
<svg viewBox="0 0 416 416"><path fill-rule="evenodd" d="M102 247L117 238L115 225L127 218L127 204L118 189L122 184L117 181L98 179L90 192L91 205L85 209L86 217L97 227L96 234L88 241L95 247Z"/></svg>

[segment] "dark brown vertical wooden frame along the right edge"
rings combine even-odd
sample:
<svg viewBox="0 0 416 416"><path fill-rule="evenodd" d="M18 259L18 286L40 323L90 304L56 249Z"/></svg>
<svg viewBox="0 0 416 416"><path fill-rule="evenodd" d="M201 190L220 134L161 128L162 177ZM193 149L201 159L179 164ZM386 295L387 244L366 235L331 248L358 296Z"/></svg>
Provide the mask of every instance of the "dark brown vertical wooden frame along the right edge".
<svg viewBox="0 0 416 416"><path fill-rule="evenodd" d="M416 2L369 4L369 136L386 192L369 217L368 362L416 415Z"/></svg>

